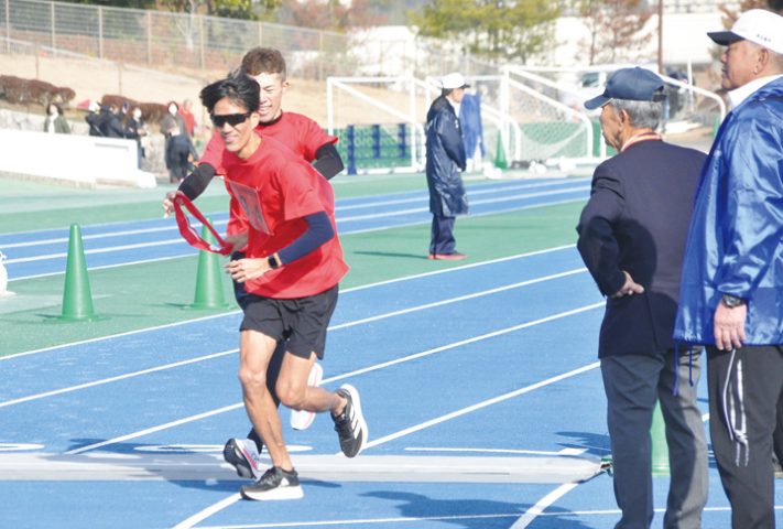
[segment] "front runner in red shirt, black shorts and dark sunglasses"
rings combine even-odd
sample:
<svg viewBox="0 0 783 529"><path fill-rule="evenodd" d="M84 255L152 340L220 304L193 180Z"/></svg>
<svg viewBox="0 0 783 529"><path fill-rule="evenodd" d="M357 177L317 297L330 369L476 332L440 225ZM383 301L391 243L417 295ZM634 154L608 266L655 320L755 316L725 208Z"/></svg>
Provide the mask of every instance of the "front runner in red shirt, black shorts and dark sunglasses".
<svg viewBox="0 0 783 529"><path fill-rule="evenodd" d="M241 494L293 499L303 493L265 380L276 344L289 336L275 386L285 406L330 411L347 457L367 443L367 423L352 386L329 392L307 385L313 364L323 358L337 283L348 266L336 234L331 186L301 156L255 132L258 100L259 85L242 73L202 90L225 142L221 164L229 193L248 220L247 257L231 260L226 269L248 291L239 379L248 417L267 440L273 464L254 484L241 487Z"/></svg>

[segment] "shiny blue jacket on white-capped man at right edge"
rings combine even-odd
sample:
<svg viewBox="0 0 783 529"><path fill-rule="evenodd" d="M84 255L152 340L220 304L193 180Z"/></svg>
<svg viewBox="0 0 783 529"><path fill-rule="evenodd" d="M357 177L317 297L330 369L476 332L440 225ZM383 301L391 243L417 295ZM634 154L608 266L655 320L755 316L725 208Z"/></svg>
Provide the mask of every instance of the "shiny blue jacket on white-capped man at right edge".
<svg viewBox="0 0 783 529"><path fill-rule="evenodd" d="M718 130L696 194L674 338L714 345L722 294L748 302L747 345L783 344L783 78Z"/></svg>

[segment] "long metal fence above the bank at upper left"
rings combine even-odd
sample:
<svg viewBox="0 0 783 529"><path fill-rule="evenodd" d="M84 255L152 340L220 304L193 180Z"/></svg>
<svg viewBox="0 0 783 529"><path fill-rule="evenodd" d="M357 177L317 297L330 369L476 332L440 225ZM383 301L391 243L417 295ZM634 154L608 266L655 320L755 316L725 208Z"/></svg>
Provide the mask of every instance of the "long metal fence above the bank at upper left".
<svg viewBox="0 0 783 529"><path fill-rule="evenodd" d="M253 46L280 50L291 75L323 79L355 67L348 37L268 22L135 9L0 0L0 37L126 64L227 71Z"/></svg>

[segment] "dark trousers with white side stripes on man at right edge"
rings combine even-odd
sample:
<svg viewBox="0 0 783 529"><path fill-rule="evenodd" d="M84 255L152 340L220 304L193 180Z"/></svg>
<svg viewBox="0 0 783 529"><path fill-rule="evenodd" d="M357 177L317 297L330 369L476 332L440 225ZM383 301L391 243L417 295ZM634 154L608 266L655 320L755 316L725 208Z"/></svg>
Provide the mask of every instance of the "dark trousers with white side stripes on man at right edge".
<svg viewBox="0 0 783 529"><path fill-rule="evenodd" d="M773 529L772 432L783 346L708 347L709 433L733 529Z"/></svg>

